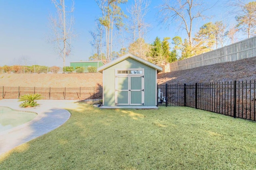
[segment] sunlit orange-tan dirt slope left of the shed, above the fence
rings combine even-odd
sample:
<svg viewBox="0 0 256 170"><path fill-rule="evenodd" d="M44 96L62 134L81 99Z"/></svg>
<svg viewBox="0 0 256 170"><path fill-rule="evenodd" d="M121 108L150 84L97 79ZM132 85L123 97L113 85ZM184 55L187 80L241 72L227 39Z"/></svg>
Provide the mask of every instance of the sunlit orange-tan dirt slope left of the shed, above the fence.
<svg viewBox="0 0 256 170"><path fill-rule="evenodd" d="M0 74L0 86L93 87L102 85L102 73Z"/></svg>

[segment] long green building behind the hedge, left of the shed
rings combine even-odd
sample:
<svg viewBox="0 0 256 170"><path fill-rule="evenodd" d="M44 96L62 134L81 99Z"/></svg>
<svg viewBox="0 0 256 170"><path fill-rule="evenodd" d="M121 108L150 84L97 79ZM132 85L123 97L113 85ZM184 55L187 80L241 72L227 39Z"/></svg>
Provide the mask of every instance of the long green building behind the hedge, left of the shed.
<svg viewBox="0 0 256 170"><path fill-rule="evenodd" d="M102 65L104 65L104 63L102 61L73 61L70 62L70 67L73 67L74 70L77 67L84 67L84 73L88 73L88 67L101 67Z"/></svg>

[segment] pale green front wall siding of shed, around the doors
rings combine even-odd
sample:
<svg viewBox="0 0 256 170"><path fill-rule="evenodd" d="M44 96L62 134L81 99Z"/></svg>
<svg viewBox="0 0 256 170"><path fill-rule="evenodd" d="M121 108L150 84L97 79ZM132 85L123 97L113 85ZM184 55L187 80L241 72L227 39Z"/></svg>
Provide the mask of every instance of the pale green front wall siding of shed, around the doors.
<svg viewBox="0 0 256 170"><path fill-rule="evenodd" d="M127 58L103 71L104 103L115 105L115 69L144 69L144 105L156 105L156 69Z"/></svg>

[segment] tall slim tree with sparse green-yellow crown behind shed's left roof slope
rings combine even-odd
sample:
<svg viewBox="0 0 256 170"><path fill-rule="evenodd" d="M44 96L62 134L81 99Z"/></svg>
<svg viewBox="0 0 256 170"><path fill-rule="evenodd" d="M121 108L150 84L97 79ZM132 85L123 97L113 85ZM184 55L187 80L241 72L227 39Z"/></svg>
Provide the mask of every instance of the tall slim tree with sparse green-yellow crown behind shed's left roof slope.
<svg viewBox="0 0 256 170"><path fill-rule="evenodd" d="M120 4L126 3L127 0L95 0L98 4L102 17L99 22L105 28L106 37L106 59L107 62L111 61L112 54L112 34L113 27L117 29L123 26L123 17L126 17L120 8Z"/></svg>

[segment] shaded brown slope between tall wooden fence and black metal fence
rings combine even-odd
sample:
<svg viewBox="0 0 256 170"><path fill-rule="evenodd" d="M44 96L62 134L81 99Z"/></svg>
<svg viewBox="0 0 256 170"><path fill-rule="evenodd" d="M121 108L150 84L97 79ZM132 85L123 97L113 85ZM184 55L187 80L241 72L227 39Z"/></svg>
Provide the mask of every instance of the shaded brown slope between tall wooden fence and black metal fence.
<svg viewBox="0 0 256 170"><path fill-rule="evenodd" d="M158 74L158 83L160 84L208 83L254 79L256 79L256 57Z"/></svg>

